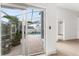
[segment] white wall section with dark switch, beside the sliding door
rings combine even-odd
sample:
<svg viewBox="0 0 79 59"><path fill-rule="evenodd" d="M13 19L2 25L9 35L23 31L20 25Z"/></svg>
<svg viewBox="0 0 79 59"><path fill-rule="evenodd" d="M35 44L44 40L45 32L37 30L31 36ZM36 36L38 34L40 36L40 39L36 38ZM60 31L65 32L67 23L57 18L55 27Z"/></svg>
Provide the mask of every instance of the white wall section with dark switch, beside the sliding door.
<svg viewBox="0 0 79 59"><path fill-rule="evenodd" d="M56 51L57 24L56 24L56 5L47 3L30 4L33 6L46 8L46 54ZM51 30L49 30L51 26Z"/></svg>

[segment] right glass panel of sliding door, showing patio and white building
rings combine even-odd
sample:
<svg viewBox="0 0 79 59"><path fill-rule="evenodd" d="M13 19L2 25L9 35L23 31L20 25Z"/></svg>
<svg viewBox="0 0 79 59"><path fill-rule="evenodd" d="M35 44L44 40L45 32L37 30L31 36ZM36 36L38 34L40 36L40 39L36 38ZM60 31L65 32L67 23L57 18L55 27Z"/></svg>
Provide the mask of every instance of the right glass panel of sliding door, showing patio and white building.
<svg viewBox="0 0 79 59"><path fill-rule="evenodd" d="M31 9L31 12L27 13L27 38L28 38L28 55L39 54L44 52L43 40L42 40L42 13L41 10ZM28 10L30 10L28 8ZM28 18L30 17L31 20Z"/></svg>

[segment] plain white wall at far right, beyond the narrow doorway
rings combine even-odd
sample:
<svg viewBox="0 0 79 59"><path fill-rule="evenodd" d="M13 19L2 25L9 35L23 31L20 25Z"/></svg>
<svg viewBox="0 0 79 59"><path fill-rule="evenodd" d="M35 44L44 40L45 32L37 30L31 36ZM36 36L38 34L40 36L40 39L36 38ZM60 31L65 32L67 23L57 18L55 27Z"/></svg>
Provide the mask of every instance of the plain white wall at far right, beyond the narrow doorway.
<svg viewBox="0 0 79 59"><path fill-rule="evenodd" d="M77 38L77 32L78 32L78 12L58 8L58 16L59 18L62 18L65 22L65 39L74 39Z"/></svg>

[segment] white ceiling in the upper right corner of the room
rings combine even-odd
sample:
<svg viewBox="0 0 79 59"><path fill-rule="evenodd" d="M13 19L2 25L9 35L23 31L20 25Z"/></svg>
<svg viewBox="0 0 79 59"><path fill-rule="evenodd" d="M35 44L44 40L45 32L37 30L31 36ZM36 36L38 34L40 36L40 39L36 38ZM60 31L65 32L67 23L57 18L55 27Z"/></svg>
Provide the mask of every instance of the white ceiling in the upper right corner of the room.
<svg viewBox="0 0 79 59"><path fill-rule="evenodd" d="M79 3L57 3L57 6L79 12Z"/></svg>

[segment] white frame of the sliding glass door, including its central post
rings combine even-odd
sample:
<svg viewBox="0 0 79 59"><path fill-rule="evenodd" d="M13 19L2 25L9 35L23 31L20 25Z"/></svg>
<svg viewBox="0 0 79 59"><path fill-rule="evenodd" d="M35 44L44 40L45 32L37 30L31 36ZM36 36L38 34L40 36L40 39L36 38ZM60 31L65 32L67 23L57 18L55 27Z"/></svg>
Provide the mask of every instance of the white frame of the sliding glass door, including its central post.
<svg viewBox="0 0 79 59"><path fill-rule="evenodd" d="M0 4L0 8L1 8L1 5L10 6L10 4L8 4L8 3L5 4L4 3L4 4ZM12 7L15 7L15 6L16 6L16 8L17 7L19 7L19 8L22 7L21 5L12 4ZM44 39L43 39L44 43L43 43L43 47L44 47L44 54L46 55L46 8L41 8L41 7L33 6L33 5L30 5L30 4L25 4L24 8L27 9L27 6L42 9L42 11L44 12L44 15L43 15L44 16L44 18L43 18L43 21L44 21ZM28 54L28 37L27 37L27 21L26 21L27 16L26 16L25 13L26 13L25 11L23 11L23 13L22 13L23 14L23 21L22 21L22 55L27 56L29 54ZM25 29L26 29L26 31L25 31L26 32L26 37L25 38L26 39L24 38L24 25L25 24L26 24L26 27L25 27ZM0 26L1 26L1 23L0 23ZM0 40L1 40L1 29L0 29ZM0 41L0 45L1 45L1 41ZM1 46L0 46L0 48L1 48ZM1 49L0 49L0 55L1 55Z"/></svg>

